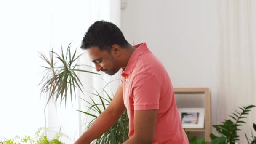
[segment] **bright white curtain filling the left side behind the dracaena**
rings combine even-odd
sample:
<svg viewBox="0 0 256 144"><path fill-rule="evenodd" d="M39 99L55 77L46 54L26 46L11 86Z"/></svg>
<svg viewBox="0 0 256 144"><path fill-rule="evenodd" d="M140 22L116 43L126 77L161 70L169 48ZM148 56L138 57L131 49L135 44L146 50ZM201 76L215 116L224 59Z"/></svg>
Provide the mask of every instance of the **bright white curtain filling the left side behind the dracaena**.
<svg viewBox="0 0 256 144"><path fill-rule="evenodd" d="M59 51L72 42L72 51L79 53L83 35L96 20L111 21L120 27L120 0L6 0L0 1L0 138L15 135L33 136L37 128L44 127L45 99L40 99L42 68L45 63L38 57L38 51L48 54L52 47ZM79 64L91 64L86 57ZM92 70L92 69L91 69ZM102 88L102 80L92 75L80 74L85 91L88 88ZM106 81L118 79L102 77ZM112 88L117 87L113 83ZM91 91L91 90L90 90ZM78 92L78 96L85 97ZM68 96L69 97L69 96ZM61 132L73 143L84 128L79 110L84 107L77 98L65 104L49 104L46 109L46 126L60 127ZM82 118L81 118L82 117ZM50 136L51 138L52 136Z"/></svg>

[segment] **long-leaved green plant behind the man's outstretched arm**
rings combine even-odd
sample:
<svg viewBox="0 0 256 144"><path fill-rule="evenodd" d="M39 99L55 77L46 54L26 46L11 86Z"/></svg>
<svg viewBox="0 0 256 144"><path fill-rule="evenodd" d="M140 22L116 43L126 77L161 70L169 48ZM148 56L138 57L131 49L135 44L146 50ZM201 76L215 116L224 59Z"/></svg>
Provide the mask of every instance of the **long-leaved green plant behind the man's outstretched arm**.
<svg viewBox="0 0 256 144"><path fill-rule="evenodd" d="M94 96L99 98L99 103L94 101L91 96L91 102L86 101L83 99L88 105L88 111L82 112L86 115L89 115L93 117L94 119L91 120L88 123L88 126L86 129L88 129L91 124L94 122L94 120L98 117L98 115L101 114L103 110L106 109L106 107L109 105L110 101L112 101L112 98L109 96L109 94L103 89L104 93L107 95L106 97L101 96L98 91L95 90L96 93L91 93ZM96 113L96 114L94 114ZM127 110L121 115L119 120L108 130L106 131L103 135L101 135L99 138L97 138L95 141L93 141L93 144L122 144L128 139L128 128L129 120L128 120L128 115L127 115Z"/></svg>

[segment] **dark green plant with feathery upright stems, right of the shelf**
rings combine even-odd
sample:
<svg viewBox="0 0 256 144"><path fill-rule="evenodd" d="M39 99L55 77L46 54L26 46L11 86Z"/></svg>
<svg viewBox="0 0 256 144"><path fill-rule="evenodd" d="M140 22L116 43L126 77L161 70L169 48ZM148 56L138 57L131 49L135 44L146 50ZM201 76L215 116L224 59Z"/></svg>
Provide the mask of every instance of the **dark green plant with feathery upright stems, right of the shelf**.
<svg viewBox="0 0 256 144"><path fill-rule="evenodd" d="M246 107L239 107L240 110L235 110L235 112L233 112L233 115L229 115L232 120L225 120L224 122L222 122L221 125L213 125L213 127L216 128L216 131L218 131L222 136L218 137L211 133L211 139L213 141L219 139L226 139L225 143L223 144L235 144L235 141L239 141L237 131L239 131L240 129L238 127L245 123L242 119L246 118L245 115L248 115L248 112L250 112L250 109L253 107L255 106L249 105Z"/></svg>

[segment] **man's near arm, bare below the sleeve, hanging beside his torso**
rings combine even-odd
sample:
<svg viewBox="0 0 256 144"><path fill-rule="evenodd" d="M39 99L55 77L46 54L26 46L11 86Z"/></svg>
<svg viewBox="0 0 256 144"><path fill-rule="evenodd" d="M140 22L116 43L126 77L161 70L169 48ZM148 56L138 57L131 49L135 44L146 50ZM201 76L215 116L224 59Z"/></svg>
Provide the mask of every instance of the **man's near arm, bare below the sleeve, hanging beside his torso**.
<svg viewBox="0 0 256 144"><path fill-rule="evenodd" d="M134 111L134 136L123 144L152 144L158 110Z"/></svg>

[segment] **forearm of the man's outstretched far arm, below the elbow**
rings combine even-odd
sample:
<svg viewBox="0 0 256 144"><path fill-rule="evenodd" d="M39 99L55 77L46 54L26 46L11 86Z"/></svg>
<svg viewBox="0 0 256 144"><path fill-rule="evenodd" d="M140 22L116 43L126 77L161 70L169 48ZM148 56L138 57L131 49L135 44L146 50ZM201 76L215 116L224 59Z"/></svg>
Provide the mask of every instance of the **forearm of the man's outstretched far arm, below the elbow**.
<svg viewBox="0 0 256 144"><path fill-rule="evenodd" d="M104 132L109 130L112 125L118 120L120 115L113 115L107 109L99 115L93 122L88 131L83 133L82 136L75 142L75 144L89 144L94 139L101 136Z"/></svg>

